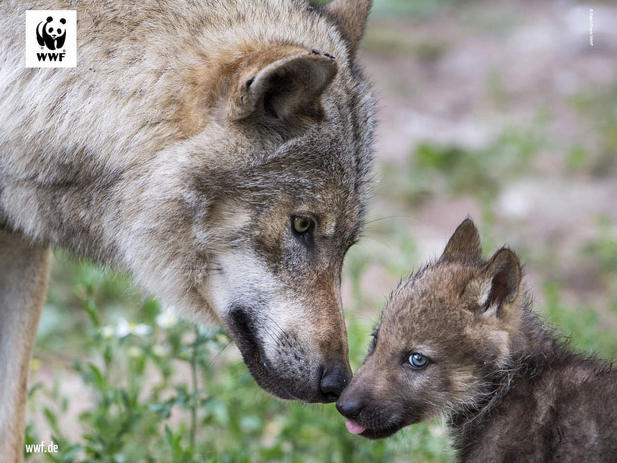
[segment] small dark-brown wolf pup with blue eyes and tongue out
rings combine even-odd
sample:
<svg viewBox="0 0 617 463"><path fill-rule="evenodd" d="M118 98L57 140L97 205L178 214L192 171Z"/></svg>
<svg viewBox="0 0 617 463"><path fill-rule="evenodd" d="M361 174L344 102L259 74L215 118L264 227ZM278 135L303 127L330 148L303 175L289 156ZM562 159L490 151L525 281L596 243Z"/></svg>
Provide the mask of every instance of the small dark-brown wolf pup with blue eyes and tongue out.
<svg viewBox="0 0 617 463"><path fill-rule="evenodd" d="M399 284L336 404L371 439L445 415L463 462L617 461L617 370L531 311L516 254L486 262L467 219Z"/></svg>

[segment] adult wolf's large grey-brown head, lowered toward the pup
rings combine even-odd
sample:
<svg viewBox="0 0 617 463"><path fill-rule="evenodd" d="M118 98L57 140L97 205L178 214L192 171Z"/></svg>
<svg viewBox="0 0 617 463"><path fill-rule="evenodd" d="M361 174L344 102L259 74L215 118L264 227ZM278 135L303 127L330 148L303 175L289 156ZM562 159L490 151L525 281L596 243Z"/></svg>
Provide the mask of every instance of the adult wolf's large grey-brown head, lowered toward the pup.
<svg viewBox="0 0 617 463"><path fill-rule="evenodd" d="M263 388L334 401L351 378L342 262L371 180L373 101L354 63L370 1L247 5L178 64L178 141L131 190L126 253L167 304L218 319Z"/></svg>

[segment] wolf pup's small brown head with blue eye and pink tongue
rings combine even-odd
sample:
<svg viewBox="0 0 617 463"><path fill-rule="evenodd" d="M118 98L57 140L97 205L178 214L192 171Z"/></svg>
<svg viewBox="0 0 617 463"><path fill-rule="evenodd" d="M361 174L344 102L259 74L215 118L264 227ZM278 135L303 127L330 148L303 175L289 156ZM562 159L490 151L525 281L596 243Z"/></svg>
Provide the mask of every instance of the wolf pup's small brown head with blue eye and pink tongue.
<svg viewBox="0 0 617 463"><path fill-rule="evenodd" d="M483 261L467 219L444 253L392 293L364 364L337 402L350 432L382 438L494 392L528 298L510 249Z"/></svg>

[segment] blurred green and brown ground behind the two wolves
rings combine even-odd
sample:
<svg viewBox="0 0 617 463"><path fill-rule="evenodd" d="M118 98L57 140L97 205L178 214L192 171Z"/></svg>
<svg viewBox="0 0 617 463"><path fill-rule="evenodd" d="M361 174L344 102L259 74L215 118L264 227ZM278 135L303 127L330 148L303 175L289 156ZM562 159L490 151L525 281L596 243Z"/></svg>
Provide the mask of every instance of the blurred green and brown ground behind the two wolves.
<svg viewBox="0 0 617 463"><path fill-rule="evenodd" d="M616 24L609 1L375 0L360 59L379 101L378 183L342 280L354 369L387 294L466 215L487 256L518 252L537 311L616 357ZM225 333L62 251L27 422L27 442L60 449L31 462L452 460L438 420L373 442L334 404L271 398Z"/></svg>

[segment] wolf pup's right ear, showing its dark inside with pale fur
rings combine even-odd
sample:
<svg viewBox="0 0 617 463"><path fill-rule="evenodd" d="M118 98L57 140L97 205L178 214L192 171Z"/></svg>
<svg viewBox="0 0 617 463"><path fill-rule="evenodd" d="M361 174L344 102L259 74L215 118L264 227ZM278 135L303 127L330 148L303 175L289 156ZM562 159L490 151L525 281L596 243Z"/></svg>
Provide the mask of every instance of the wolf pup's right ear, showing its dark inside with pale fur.
<svg viewBox="0 0 617 463"><path fill-rule="evenodd" d="M479 271L481 294L479 313L485 317L501 315L504 302L512 302L518 296L523 271L516 254L508 248L499 249Z"/></svg>

